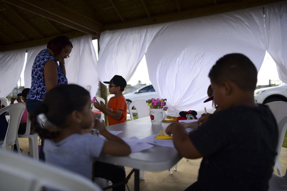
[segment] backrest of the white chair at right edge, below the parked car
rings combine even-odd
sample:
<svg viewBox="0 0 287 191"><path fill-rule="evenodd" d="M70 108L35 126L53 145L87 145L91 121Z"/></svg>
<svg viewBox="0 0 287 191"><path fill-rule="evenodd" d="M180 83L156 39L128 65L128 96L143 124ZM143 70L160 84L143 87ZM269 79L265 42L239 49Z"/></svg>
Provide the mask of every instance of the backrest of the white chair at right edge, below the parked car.
<svg viewBox="0 0 287 191"><path fill-rule="evenodd" d="M277 124L287 115L287 103L286 102L270 102L266 103L271 112L273 113Z"/></svg>

